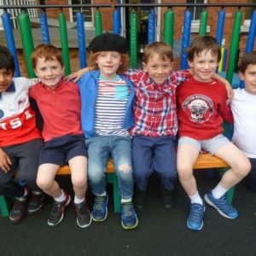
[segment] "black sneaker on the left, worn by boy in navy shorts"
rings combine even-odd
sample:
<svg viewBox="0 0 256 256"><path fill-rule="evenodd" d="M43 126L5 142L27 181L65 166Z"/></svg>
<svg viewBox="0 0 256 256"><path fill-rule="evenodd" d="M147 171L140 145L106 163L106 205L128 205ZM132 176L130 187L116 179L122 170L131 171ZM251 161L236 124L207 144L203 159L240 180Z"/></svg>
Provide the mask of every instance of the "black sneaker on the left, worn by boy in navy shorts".
<svg viewBox="0 0 256 256"><path fill-rule="evenodd" d="M49 226L55 226L56 224L59 224L61 222L64 216L64 210L71 201L71 197L70 195L67 194L67 192L65 192L65 195L66 195L66 200L64 201L54 200L51 210L49 212L49 217L48 217Z"/></svg>

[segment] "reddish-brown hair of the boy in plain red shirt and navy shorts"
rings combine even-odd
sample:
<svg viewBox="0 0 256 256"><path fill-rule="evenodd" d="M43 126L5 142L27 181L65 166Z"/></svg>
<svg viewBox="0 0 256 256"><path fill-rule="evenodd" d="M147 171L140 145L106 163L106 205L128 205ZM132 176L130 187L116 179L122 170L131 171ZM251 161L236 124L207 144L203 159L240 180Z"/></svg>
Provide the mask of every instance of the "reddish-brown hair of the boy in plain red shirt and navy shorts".
<svg viewBox="0 0 256 256"><path fill-rule="evenodd" d="M32 67L37 67L37 61L39 58L45 58L45 61L57 60L64 66L61 50L56 48L52 44L39 44L32 52Z"/></svg>

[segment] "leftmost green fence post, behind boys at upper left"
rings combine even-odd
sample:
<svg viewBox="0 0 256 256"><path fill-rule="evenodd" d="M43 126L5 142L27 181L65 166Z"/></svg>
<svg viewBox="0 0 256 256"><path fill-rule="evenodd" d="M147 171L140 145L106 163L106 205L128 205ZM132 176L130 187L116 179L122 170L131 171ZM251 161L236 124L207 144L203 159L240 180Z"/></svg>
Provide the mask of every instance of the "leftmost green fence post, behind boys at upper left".
<svg viewBox="0 0 256 256"><path fill-rule="evenodd" d="M28 14L20 14L17 17L18 26L20 31L21 44L23 46L24 58L26 61L26 72L28 78L32 79L36 77L32 67L31 55L34 49L34 43L32 38L32 28Z"/></svg>

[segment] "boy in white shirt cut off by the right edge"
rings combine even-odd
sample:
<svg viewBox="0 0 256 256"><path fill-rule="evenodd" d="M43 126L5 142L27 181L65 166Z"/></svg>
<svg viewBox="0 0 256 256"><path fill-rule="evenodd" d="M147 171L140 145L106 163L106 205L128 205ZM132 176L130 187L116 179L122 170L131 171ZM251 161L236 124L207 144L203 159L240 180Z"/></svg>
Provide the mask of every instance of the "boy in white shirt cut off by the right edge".
<svg viewBox="0 0 256 256"><path fill-rule="evenodd" d="M245 54L240 61L240 78L245 89L236 89L231 102L234 116L233 142L249 158L252 169L246 177L247 188L256 192L256 52Z"/></svg>

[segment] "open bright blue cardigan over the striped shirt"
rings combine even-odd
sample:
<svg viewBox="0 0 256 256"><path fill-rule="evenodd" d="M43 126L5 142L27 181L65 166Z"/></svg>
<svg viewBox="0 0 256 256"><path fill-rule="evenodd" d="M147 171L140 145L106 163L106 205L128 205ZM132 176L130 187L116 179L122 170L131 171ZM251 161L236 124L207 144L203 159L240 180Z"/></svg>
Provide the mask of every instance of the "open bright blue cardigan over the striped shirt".
<svg viewBox="0 0 256 256"><path fill-rule="evenodd" d="M95 137L95 105L96 96L98 91L98 80L100 72L99 70L90 71L85 73L81 79L79 79L79 90L81 96L81 119L82 119L82 129L84 131L85 138ZM133 115L133 99L135 96L133 84L129 79L124 76L119 75L121 79L124 79L129 88L131 89L131 94L127 102L127 107L125 110L125 118L122 128L129 130L134 125L134 115Z"/></svg>

